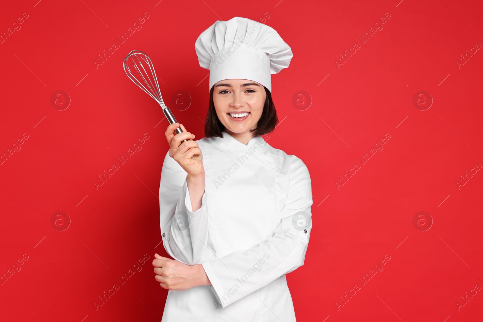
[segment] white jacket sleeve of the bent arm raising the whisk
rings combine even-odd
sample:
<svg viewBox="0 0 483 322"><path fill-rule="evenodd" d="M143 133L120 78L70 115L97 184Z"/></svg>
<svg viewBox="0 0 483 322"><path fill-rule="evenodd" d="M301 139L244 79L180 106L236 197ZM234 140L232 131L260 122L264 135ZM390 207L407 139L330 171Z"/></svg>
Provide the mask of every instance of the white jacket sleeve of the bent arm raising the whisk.
<svg viewBox="0 0 483 322"><path fill-rule="evenodd" d="M166 252L184 264L195 265L207 244L207 193L203 193L201 207L193 211L187 175L168 151L159 185L159 222Z"/></svg>

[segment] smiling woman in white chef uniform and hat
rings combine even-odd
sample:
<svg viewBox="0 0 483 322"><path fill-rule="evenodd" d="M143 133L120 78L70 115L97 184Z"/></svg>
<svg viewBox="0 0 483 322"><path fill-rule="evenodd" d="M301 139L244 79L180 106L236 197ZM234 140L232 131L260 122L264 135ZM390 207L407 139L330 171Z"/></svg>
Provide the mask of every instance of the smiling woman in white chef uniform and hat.
<svg viewBox="0 0 483 322"><path fill-rule="evenodd" d="M277 124L270 73L292 52L275 30L241 17L217 21L195 48L210 69L210 105L205 138L178 123L165 133L160 225L174 259L153 261L169 290L162 321L296 321L285 274L304 263L311 179L302 160L261 137Z"/></svg>

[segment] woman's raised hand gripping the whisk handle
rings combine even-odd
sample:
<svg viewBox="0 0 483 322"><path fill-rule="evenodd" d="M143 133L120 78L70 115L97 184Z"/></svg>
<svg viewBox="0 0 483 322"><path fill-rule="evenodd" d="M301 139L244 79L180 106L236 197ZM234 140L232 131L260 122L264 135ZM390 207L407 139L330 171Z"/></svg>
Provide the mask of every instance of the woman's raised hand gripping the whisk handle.
<svg viewBox="0 0 483 322"><path fill-rule="evenodd" d="M174 134L174 130L181 126L183 132ZM170 124L165 132L166 140L170 145L169 155L176 162L179 163L181 168L183 168L189 177L195 178L199 175L203 175L204 178L204 168L201 150L199 149L198 143L193 139L194 134L187 132L185 126L181 123ZM183 140L186 140L182 142ZM203 179L204 182L204 179Z"/></svg>

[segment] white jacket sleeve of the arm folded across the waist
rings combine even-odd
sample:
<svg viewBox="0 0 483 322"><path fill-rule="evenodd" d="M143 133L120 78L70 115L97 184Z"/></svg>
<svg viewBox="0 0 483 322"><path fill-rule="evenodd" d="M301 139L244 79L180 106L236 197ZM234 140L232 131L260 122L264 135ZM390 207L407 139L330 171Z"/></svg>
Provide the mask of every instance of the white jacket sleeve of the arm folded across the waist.
<svg viewBox="0 0 483 322"><path fill-rule="evenodd" d="M288 195L282 201L285 205L273 236L250 249L202 263L223 308L303 265L312 229L312 183L307 167L295 155Z"/></svg>

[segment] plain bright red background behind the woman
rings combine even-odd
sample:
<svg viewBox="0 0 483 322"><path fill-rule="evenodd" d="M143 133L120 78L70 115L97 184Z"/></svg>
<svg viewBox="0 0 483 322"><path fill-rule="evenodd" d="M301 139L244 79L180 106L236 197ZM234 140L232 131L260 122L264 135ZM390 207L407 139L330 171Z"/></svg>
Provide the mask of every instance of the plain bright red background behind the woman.
<svg viewBox="0 0 483 322"><path fill-rule="evenodd" d="M294 54L272 75L281 122L265 140L301 158L312 178L311 242L304 266L287 275L298 321L482 321L482 291L456 305L483 286L482 170L456 183L483 166L483 52L456 63L483 44L481 1L37 1L4 1L0 13L2 34L28 14L0 44L0 153L28 135L0 166L0 274L28 256L0 286L0 320L161 319L168 291L152 260L166 255L157 193L168 122L122 61L133 49L151 57L167 105L198 140L209 77L195 41L216 20L241 16L277 30ZM143 13L142 29L96 68ZM50 102L58 90L71 98L63 111ZM413 104L420 90L429 109ZM145 133L142 150L96 190ZM70 218L64 231L51 224L57 211ZM426 221L414 225L419 211ZM144 254L142 270L96 310ZM338 308L385 254L384 270Z"/></svg>

